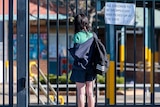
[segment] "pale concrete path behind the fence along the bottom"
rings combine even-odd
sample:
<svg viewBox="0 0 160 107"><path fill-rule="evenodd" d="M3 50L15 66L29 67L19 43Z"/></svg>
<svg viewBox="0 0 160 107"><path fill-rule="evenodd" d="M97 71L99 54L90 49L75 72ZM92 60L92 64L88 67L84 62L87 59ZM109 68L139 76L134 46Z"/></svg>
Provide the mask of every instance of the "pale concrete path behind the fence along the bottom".
<svg viewBox="0 0 160 107"><path fill-rule="evenodd" d="M0 105L3 102L2 99L2 93L0 93ZM43 96L40 95L40 98L44 101L47 102L47 99ZM66 102L67 97L63 96L64 101ZM150 94L145 96L145 102L150 103ZM30 95L30 104L35 104L37 103L38 99L35 95ZM136 95L136 103L144 103L143 99L143 94L139 93ZM98 103L105 103L105 96L100 95L97 96L97 102ZM76 103L76 96L68 96L68 103ZM130 95L117 95L116 96L116 103L134 103L134 96L132 94ZM155 103L160 103L160 93L155 93ZM5 94L5 104L8 104L8 94ZM14 104L16 104L16 94L14 95Z"/></svg>

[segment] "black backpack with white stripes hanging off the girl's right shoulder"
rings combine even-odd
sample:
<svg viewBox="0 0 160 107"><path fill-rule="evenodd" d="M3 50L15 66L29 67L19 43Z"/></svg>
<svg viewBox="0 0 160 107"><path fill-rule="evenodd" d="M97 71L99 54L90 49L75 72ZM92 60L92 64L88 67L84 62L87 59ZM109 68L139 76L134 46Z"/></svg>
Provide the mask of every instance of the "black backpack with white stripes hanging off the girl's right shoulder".
<svg viewBox="0 0 160 107"><path fill-rule="evenodd" d="M105 75L109 68L109 59L107 58L106 48L94 32L93 37L95 43L93 54L94 71L96 74Z"/></svg>

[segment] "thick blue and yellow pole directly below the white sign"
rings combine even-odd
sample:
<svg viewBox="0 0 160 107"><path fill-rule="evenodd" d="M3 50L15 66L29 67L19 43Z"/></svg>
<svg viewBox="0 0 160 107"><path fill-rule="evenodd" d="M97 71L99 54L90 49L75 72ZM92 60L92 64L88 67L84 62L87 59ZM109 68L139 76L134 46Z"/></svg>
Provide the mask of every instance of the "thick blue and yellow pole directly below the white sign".
<svg viewBox="0 0 160 107"><path fill-rule="evenodd" d="M107 72L107 98L106 103L110 105L115 104L115 34L114 25L106 25L106 36L109 38L107 50L110 55L110 67Z"/></svg>

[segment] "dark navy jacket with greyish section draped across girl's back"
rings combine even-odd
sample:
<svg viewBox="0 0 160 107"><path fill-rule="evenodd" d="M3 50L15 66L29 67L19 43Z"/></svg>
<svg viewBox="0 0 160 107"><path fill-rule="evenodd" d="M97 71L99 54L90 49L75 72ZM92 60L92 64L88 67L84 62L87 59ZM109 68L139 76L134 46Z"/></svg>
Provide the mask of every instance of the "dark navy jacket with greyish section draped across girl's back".
<svg viewBox="0 0 160 107"><path fill-rule="evenodd" d="M74 70L91 70L92 56L94 50L94 38L88 39L86 42L79 44L75 43L73 48L69 49L70 54L74 58Z"/></svg>

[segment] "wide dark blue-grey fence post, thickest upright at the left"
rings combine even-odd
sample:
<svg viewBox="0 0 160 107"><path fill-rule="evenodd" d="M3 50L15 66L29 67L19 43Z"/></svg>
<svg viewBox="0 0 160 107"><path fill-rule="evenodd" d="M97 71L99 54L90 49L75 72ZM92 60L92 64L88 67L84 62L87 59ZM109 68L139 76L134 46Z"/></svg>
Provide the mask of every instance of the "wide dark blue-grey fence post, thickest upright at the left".
<svg viewBox="0 0 160 107"><path fill-rule="evenodd" d="M17 0L17 107L28 107L28 0Z"/></svg>

